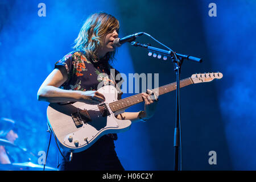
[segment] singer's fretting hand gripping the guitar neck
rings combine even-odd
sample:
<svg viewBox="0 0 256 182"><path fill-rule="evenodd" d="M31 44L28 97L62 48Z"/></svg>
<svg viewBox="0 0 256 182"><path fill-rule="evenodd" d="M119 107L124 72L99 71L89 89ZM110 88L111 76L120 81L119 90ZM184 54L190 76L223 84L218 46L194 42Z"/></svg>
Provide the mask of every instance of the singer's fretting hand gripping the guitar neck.
<svg viewBox="0 0 256 182"><path fill-rule="evenodd" d="M142 119L150 119L153 117L158 102L158 96L156 96L152 90L147 89L147 93L142 93L142 98L145 102L144 112L141 115Z"/></svg>

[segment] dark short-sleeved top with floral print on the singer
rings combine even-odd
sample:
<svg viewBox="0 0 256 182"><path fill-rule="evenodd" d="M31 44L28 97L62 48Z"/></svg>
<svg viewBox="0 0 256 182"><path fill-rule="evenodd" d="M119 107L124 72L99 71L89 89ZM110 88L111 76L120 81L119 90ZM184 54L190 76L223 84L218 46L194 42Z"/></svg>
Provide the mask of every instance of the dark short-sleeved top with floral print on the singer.
<svg viewBox="0 0 256 182"><path fill-rule="evenodd" d="M118 84L122 78L115 81L110 77L111 67L106 61L90 60L86 57L84 51L72 51L65 55L63 59L55 63L55 68L65 67L68 73L68 80L60 88L65 90L97 90L98 84L104 81L104 84ZM115 76L119 73L114 69ZM101 74L105 73L105 74ZM117 139L116 134L109 135L112 139Z"/></svg>

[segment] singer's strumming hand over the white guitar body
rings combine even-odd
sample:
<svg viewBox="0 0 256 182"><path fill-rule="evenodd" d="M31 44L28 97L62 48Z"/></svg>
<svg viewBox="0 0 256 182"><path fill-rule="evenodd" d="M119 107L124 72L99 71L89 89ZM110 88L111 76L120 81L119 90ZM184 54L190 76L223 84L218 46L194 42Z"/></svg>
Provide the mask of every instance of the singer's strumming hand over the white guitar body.
<svg viewBox="0 0 256 182"><path fill-rule="evenodd" d="M98 91L81 91L81 102L98 105L105 101L105 97Z"/></svg>

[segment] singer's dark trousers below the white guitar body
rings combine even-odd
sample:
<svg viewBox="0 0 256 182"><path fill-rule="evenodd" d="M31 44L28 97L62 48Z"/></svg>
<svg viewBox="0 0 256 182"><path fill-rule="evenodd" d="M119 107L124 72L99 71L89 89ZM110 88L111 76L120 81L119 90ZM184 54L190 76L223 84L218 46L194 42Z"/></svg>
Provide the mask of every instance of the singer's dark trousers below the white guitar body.
<svg viewBox="0 0 256 182"><path fill-rule="evenodd" d="M124 171L114 148L114 140L104 135L87 150L73 153L71 162L69 152L63 152L67 160L59 154L57 167L60 171Z"/></svg>

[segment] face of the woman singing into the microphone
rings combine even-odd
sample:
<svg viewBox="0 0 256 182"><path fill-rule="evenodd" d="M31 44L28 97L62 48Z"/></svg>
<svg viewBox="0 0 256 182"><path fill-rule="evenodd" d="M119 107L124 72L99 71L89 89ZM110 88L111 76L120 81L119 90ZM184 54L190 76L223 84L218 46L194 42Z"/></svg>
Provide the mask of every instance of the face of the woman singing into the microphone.
<svg viewBox="0 0 256 182"><path fill-rule="evenodd" d="M103 39L102 49L99 51L99 56L104 57L106 53L114 51L114 40L118 38L117 30L113 30L112 32L106 34Z"/></svg>

